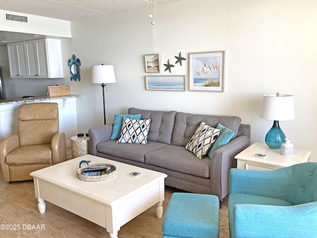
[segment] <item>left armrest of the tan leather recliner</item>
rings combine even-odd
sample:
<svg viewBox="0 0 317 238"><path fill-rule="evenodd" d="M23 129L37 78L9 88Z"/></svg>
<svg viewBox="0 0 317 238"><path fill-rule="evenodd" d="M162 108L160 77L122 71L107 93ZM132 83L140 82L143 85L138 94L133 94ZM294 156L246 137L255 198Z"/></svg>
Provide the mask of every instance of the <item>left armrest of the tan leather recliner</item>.
<svg viewBox="0 0 317 238"><path fill-rule="evenodd" d="M5 182L10 181L9 166L5 163L5 157L19 146L20 142L18 135L8 135L0 141L0 165Z"/></svg>

